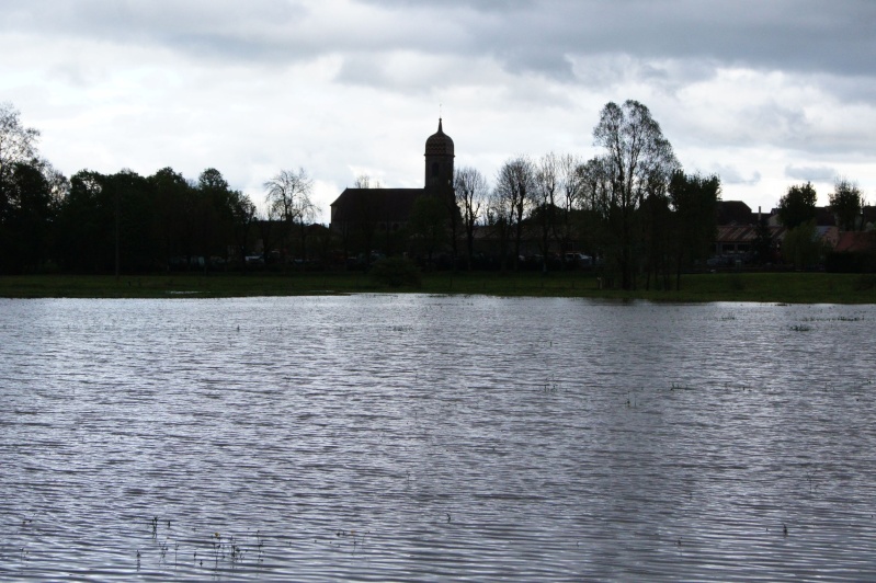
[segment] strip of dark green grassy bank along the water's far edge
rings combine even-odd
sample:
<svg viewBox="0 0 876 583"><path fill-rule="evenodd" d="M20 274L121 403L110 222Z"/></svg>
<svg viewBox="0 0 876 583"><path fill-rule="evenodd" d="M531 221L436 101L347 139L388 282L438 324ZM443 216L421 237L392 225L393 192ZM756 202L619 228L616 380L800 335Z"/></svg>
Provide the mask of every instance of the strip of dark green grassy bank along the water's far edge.
<svg viewBox="0 0 876 583"><path fill-rule="evenodd" d="M589 273L435 273L419 288L389 288L362 273L0 276L0 297L182 298L302 296L357 293L481 294L494 296L591 297L655 301L771 301L876 304L876 276L829 273L739 273L685 275L681 292L600 289Z"/></svg>

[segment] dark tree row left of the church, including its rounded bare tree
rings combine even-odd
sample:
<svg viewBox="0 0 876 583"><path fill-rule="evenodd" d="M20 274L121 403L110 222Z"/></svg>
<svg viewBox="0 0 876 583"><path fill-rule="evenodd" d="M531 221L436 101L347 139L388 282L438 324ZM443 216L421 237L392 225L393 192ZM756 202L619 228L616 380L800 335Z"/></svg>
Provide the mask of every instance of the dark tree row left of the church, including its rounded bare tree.
<svg viewBox="0 0 876 583"><path fill-rule="evenodd" d="M317 214L303 169L265 183L260 215L213 168L194 181L172 168L67 179L39 156L38 137L0 104L0 274L244 267L257 239L268 255L285 259Z"/></svg>

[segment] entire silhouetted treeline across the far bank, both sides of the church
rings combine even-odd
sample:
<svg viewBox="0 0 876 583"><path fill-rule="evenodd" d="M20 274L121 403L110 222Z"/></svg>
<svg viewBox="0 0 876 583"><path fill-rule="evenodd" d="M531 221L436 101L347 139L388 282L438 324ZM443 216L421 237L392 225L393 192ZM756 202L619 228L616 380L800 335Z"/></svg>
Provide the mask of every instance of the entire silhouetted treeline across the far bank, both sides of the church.
<svg viewBox="0 0 876 583"><path fill-rule="evenodd" d="M636 101L603 107L593 130L602 151L590 160L514 156L492 184L457 168L455 199L422 196L405 217L387 215L399 190L360 176L348 218L331 228L314 224L304 169L265 182L260 216L212 168L197 180L171 168L149 176L82 170L68 180L39 157L38 136L0 104L0 274L348 270L406 256L428 270L585 268L605 286L670 289L682 273L705 270L716 248L720 179L685 172ZM838 179L834 190L837 225L863 230L857 185ZM789 187L776 210L781 253L777 227L764 218L754 260L806 266L823 255L815 202L811 184Z"/></svg>

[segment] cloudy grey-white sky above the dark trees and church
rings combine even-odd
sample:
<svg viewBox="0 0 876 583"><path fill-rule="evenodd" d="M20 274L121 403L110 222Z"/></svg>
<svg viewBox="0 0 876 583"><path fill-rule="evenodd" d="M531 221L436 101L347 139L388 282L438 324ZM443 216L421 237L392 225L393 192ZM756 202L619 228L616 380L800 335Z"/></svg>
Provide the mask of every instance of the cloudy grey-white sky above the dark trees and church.
<svg viewBox="0 0 876 583"><path fill-rule="evenodd" d="M300 168L329 220L356 176L600 153L608 102L651 112L684 170L774 207L843 176L876 204L874 0L3 0L0 102L71 175L218 169L263 204Z"/></svg>

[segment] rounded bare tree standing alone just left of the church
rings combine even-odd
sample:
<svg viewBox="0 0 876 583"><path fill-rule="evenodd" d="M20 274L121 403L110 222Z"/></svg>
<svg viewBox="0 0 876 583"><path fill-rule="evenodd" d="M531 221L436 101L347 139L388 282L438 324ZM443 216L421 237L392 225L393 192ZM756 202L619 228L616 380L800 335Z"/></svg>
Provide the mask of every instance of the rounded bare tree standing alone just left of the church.
<svg viewBox="0 0 876 583"><path fill-rule="evenodd" d="M312 221L319 208L310 199L314 181L303 168L297 172L281 170L277 175L264 183L266 191L268 216L280 220L283 232L292 231L297 226L302 237L302 258L307 259L307 222ZM287 250L282 250L284 264Z"/></svg>

